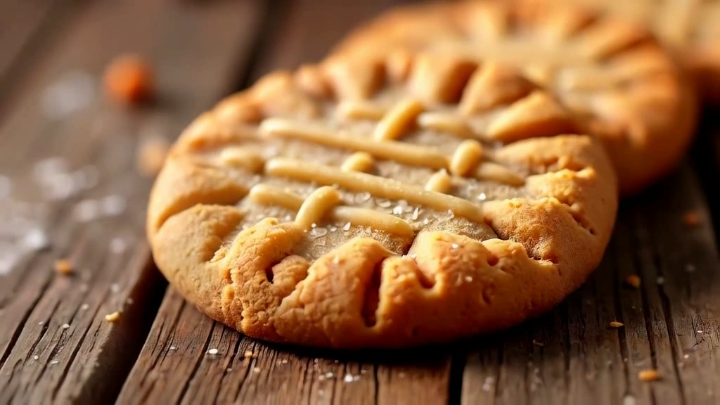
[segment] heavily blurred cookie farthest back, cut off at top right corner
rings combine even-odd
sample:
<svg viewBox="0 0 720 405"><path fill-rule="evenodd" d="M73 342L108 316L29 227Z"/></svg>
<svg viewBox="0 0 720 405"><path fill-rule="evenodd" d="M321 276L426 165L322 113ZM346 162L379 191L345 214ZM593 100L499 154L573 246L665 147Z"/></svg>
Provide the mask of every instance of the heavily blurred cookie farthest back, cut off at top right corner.
<svg viewBox="0 0 720 405"><path fill-rule="evenodd" d="M720 104L719 0L539 0L584 4L613 16L651 27L678 52L696 76L698 88L712 104Z"/></svg>

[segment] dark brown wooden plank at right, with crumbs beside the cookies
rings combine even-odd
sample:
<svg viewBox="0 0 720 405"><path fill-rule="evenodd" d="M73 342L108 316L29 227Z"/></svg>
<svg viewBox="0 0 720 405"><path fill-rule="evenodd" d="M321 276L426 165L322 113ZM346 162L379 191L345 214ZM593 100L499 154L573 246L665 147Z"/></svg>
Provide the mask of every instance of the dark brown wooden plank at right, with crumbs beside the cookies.
<svg viewBox="0 0 720 405"><path fill-rule="evenodd" d="M716 403L720 262L711 223L683 222L691 210L709 218L688 164L624 201L603 264L577 293L467 355L462 403ZM639 380L647 368L662 380Z"/></svg>

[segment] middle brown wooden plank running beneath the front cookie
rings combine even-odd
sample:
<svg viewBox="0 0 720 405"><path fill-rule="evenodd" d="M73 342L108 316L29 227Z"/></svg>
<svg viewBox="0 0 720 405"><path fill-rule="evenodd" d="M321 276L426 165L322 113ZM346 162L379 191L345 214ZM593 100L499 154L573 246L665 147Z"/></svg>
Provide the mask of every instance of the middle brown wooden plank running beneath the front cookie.
<svg viewBox="0 0 720 405"><path fill-rule="evenodd" d="M322 57L354 24L390 4L305 0L274 6L275 30L250 81ZM432 357L395 355L388 363L387 356L338 358L268 346L213 323L170 289L119 403L438 404L447 400L450 362L449 355Z"/></svg>

